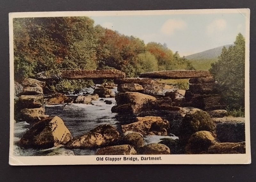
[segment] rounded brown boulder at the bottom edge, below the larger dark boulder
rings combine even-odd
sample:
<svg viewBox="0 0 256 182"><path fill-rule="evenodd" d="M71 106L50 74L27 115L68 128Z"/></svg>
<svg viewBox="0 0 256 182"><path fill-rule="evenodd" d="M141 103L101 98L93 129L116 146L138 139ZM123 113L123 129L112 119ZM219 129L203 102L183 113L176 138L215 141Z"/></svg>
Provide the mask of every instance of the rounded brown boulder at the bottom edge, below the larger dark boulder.
<svg viewBox="0 0 256 182"><path fill-rule="evenodd" d="M201 154L207 152L209 146L216 144L215 137L209 131L197 131L188 140L186 146L187 153Z"/></svg>

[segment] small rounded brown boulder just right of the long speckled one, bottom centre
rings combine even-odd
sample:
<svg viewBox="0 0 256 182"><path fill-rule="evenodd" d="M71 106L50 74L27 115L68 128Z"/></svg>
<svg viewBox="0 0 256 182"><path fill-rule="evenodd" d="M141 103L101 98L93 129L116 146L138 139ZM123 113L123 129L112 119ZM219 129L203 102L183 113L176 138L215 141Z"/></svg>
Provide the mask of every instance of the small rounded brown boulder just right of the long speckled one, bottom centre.
<svg viewBox="0 0 256 182"><path fill-rule="evenodd" d="M131 132L124 135L125 144L129 144L134 146L135 148L139 148L144 145L143 135L139 132Z"/></svg>

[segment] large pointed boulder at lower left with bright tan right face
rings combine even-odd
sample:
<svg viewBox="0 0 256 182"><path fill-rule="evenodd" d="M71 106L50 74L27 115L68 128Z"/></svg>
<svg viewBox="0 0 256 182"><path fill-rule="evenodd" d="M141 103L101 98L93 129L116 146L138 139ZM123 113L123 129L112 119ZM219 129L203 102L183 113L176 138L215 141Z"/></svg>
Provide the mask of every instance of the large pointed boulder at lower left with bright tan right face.
<svg viewBox="0 0 256 182"><path fill-rule="evenodd" d="M52 148L66 144L72 135L58 116L48 117L35 123L20 139L24 148Z"/></svg>

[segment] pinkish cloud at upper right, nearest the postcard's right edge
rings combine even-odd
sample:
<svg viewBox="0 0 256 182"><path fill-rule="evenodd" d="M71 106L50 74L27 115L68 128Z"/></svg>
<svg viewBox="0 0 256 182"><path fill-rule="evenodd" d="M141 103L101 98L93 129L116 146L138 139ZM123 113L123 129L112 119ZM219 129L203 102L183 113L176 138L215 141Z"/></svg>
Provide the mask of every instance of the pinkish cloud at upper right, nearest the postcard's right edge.
<svg viewBox="0 0 256 182"><path fill-rule="evenodd" d="M227 23L224 19L217 19L212 21L206 27L206 34L212 35L214 32L221 32L224 31L227 27Z"/></svg>

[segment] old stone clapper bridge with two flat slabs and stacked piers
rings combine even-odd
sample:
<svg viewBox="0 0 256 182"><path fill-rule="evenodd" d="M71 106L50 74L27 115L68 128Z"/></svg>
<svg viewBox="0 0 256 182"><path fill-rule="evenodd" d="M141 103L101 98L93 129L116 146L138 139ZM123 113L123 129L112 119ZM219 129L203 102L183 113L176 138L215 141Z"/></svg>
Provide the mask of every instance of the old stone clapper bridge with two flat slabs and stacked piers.
<svg viewBox="0 0 256 182"><path fill-rule="evenodd" d="M142 73L140 78L125 78L125 73L116 69L65 70L56 77L65 79L114 79L118 88L137 92L154 89L157 82L153 79L189 79L189 89L186 90L185 99L180 103L180 106L196 107L206 111L226 108L220 97L218 83L214 81L208 70L155 71ZM37 79L45 80L49 77L45 76L44 73L39 73Z"/></svg>

